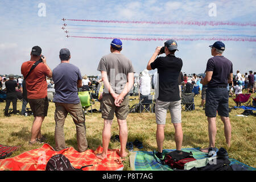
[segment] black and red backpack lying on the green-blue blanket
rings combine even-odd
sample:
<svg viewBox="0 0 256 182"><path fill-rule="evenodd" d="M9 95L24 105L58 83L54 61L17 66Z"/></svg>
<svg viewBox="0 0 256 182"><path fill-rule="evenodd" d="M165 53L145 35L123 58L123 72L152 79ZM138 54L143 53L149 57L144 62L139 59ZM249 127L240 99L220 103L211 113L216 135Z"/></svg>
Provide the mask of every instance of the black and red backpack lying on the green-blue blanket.
<svg viewBox="0 0 256 182"><path fill-rule="evenodd" d="M167 164L173 169L184 169L184 164L196 160L192 152L175 150L164 156L163 164Z"/></svg>

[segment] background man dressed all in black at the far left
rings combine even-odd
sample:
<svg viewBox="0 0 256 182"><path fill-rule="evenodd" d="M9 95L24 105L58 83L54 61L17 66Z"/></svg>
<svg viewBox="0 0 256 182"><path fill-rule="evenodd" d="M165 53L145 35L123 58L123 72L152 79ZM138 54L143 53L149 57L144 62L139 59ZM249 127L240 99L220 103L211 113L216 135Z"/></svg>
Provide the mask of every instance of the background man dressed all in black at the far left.
<svg viewBox="0 0 256 182"><path fill-rule="evenodd" d="M5 106L5 116L9 116L9 107L11 102L13 102L13 113L17 112L17 94L16 94L16 86L18 86L17 82L14 81L14 75L9 75L9 81L5 82L6 86L6 106Z"/></svg>

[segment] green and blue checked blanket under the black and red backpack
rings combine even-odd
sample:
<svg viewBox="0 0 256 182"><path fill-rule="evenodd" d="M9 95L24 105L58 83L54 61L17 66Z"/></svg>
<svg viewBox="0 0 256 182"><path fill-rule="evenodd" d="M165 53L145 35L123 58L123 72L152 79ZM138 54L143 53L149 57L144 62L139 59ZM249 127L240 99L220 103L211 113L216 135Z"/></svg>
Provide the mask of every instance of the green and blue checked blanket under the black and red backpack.
<svg viewBox="0 0 256 182"><path fill-rule="evenodd" d="M201 152L200 148L182 148L181 150L185 152L191 151L193 153L193 157L197 160L207 158L207 155L208 155L205 152ZM171 151L175 151L175 150L164 149L163 156ZM133 169L133 171L174 171L169 166L158 163L154 158L153 152L148 152L148 151L130 152L129 160L130 160L130 167L131 169ZM256 168L247 166L246 164L243 164L236 159L229 159L229 160L230 160L229 165L238 164L239 166L249 171L256 171Z"/></svg>

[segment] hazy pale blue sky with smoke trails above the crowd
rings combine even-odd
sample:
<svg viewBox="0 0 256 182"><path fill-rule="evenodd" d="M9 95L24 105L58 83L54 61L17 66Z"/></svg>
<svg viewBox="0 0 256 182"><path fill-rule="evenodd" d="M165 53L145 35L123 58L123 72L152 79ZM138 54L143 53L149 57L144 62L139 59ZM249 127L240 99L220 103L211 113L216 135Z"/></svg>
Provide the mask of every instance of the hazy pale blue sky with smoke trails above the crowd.
<svg viewBox="0 0 256 182"><path fill-rule="evenodd" d="M68 48L70 63L96 76L113 38L122 40L121 53L137 73L168 39L177 41L183 73L203 73L217 40L235 74L256 72L256 1L1 0L0 11L0 75L21 75L32 47L40 46L51 69L60 64L60 49Z"/></svg>

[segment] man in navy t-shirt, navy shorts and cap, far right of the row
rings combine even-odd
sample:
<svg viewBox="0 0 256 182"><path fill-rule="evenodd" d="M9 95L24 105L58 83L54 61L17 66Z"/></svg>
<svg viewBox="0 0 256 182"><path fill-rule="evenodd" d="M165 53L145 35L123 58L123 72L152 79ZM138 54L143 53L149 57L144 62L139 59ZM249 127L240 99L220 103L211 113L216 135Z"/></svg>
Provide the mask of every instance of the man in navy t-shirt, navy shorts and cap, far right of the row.
<svg viewBox="0 0 256 182"><path fill-rule="evenodd" d="M207 85L205 99L205 115L208 120L209 147L201 151L208 152L210 147L215 147L217 134L216 113L221 116L224 123L224 133L226 144L230 147L231 124L229 120L229 93L226 86L233 81L233 64L226 57L222 56L225 44L215 42L211 48L212 58L208 60L206 76L201 80L201 84Z"/></svg>

